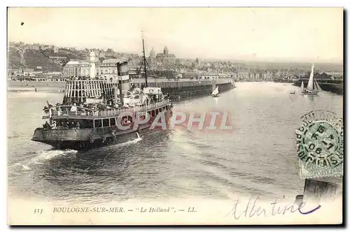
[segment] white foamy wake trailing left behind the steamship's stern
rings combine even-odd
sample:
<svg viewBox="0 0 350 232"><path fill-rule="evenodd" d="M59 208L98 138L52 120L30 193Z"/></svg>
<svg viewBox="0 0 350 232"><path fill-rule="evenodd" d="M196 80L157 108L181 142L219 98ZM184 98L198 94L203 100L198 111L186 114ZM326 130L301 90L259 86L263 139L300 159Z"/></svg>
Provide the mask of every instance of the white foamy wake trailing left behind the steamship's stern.
<svg viewBox="0 0 350 232"><path fill-rule="evenodd" d="M55 159L55 157L66 157L69 155L75 155L76 150L45 150L34 152L34 157L31 157L27 161L17 162L8 168L22 168L24 171L30 171L36 164L45 164L45 161Z"/></svg>

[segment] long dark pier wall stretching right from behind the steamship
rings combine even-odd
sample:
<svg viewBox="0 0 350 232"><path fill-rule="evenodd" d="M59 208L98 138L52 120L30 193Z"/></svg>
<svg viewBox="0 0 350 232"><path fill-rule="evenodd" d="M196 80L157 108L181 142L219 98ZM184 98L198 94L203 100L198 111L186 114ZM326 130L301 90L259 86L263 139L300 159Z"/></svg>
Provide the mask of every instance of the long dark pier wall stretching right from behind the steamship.
<svg viewBox="0 0 350 232"><path fill-rule="evenodd" d="M131 82L134 87L142 87L145 82ZM190 81L152 81L148 82L148 87L161 87L162 92L169 94L170 98L186 96L209 95L218 87L220 92L232 89L230 80L190 80Z"/></svg>

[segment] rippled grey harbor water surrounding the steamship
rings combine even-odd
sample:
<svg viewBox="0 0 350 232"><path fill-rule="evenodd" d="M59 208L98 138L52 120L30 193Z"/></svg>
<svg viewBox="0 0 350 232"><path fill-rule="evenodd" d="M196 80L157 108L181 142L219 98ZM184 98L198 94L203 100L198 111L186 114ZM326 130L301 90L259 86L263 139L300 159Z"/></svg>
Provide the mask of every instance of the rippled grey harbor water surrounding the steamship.
<svg viewBox="0 0 350 232"><path fill-rule="evenodd" d="M228 112L232 131L154 131L122 145L77 152L31 141L46 99L58 89L8 92L8 195L67 203L127 199L290 197L302 194L295 129L311 110L342 117L343 97L303 96L300 87L238 82L218 98L174 103L174 110ZM295 94L290 92L296 91Z"/></svg>

